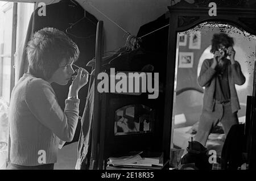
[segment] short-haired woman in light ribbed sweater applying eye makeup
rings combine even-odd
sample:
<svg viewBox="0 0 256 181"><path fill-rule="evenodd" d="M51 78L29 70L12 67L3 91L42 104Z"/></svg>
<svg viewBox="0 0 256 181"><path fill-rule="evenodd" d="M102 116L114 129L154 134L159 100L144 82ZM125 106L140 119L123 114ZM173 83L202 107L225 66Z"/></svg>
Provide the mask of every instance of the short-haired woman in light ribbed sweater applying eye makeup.
<svg viewBox="0 0 256 181"><path fill-rule="evenodd" d="M79 49L64 32L43 28L27 45L28 72L19 79L10 101L10 164L7 169L53 169L60 140L72 141L79 119L78 92L88 82L72 64ZM67 85L64 112L51 83Z"/></svg>

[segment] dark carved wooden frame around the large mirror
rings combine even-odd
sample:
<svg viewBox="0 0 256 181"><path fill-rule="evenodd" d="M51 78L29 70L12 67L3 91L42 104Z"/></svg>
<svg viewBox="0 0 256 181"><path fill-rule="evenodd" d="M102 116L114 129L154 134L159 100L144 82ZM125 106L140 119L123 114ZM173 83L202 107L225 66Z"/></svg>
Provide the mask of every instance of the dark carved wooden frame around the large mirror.
<svg viewBox="0 0 256 181"><path fill-rule="evenodd" d="M172 1L174 2L174 1ZM191 3L188 3L191 2ZM172 140L172 110L174 102L175 86L175 65L176 65L176 45L177 33L187 31L204 22L223 22L241 28L242 30L256 35L256 3L248 0L215 1L181 0L174 6L168 6L170 10L170 27L168 41L167 59L167 81L166 81L166 100L164 107L164 132L163 150L164 157L168 159ZM215 8L215 9L214 9ZM255 69L254 69L255 87ZM253 97L255 88L253 88ZM255 105L255 104L254 104ZM254 116L253 116L254 117Z"/></svg>

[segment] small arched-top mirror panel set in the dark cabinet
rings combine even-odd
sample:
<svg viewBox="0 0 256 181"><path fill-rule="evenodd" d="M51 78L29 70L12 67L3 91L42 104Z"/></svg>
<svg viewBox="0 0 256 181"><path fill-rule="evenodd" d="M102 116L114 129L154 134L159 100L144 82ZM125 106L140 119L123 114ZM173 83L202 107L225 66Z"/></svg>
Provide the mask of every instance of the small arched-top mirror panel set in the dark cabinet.
<svg viewBox="0 0 256 181"><path fill-rule="evenodd" d="M114 134L151 132L154 112L142 104L129 105L115 111Z"/></svg>

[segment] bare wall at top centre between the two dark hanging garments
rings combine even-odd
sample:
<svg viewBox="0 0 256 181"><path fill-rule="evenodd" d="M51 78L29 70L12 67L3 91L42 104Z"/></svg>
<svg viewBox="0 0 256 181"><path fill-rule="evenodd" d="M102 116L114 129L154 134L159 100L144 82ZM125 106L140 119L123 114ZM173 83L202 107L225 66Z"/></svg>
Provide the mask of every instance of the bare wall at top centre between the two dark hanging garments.
<svg viewBox="0 0 256 181"><path fill-rule="evenodd" d="M104 21L105 50L113 50L125 45L125 32L105 18L100 12L89 6L83 0L77 0L85 10ZM92 0L92 5L112 19L115 23L137 35L139 27L155 20L164 14L170 5L170 0Z"/></svg>

